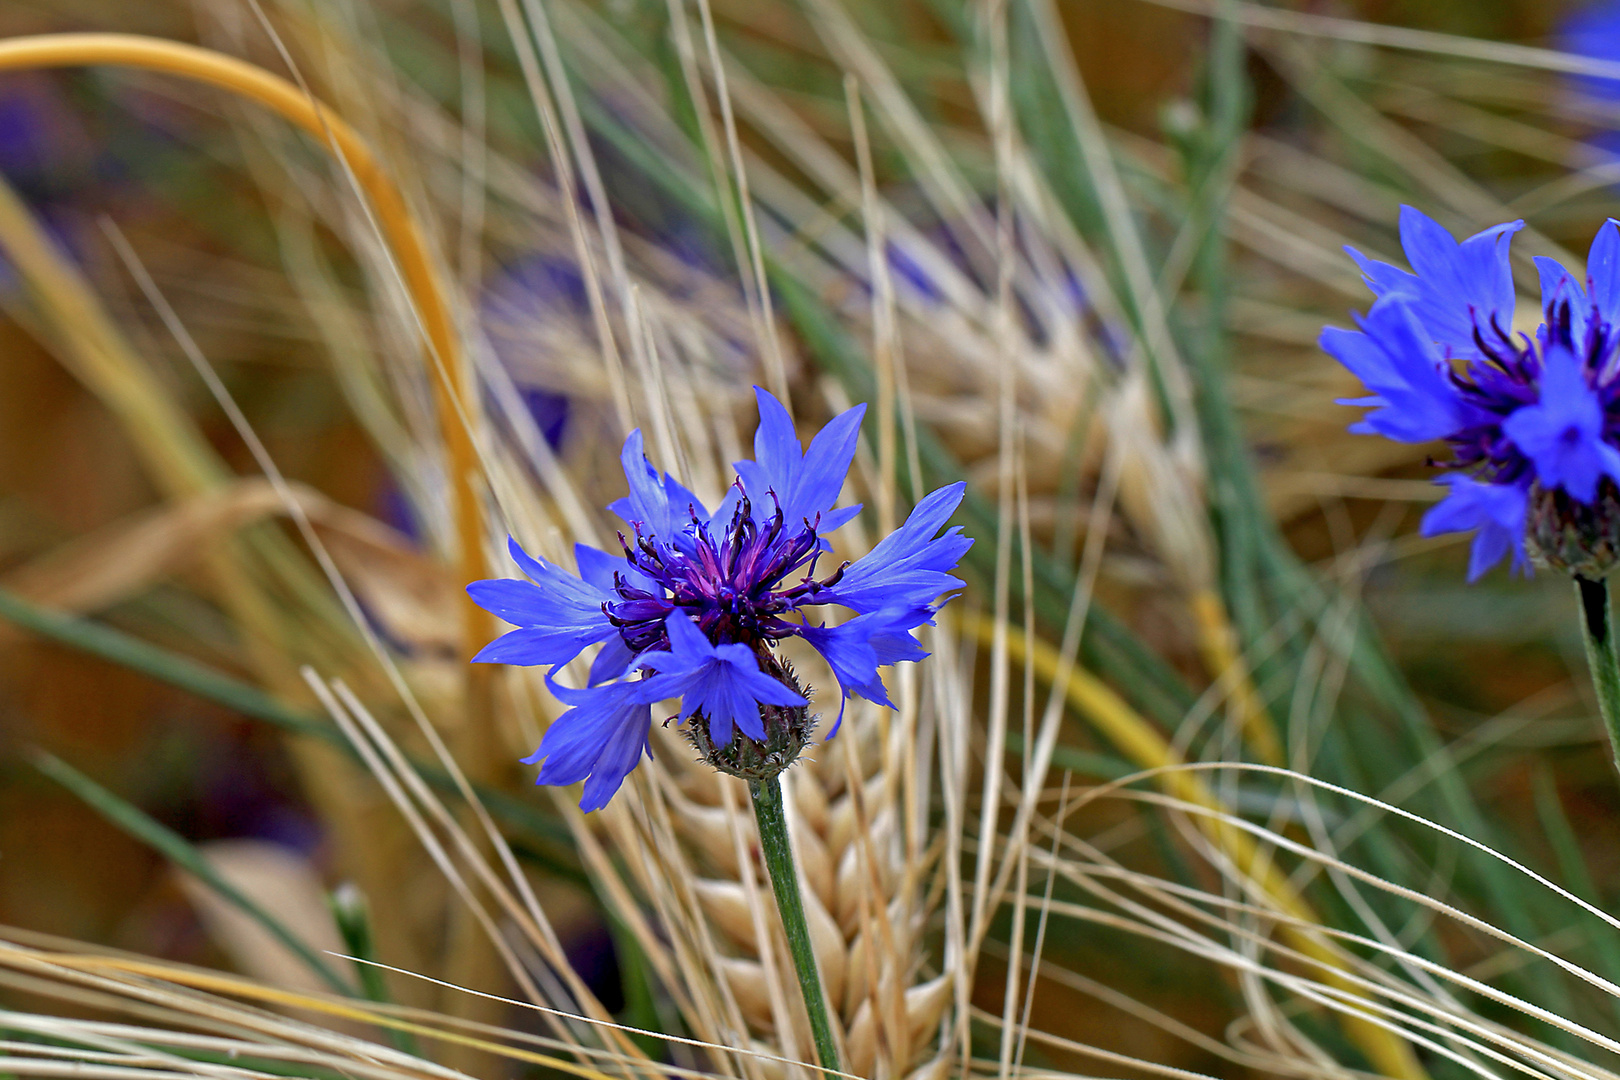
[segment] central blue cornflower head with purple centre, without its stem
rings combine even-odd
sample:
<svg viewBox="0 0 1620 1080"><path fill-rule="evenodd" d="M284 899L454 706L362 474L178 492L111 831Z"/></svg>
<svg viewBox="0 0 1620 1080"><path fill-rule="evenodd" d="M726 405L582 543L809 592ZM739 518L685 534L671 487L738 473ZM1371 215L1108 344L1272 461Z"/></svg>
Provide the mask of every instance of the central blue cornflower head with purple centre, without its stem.
<svg viewBox="0 0 1620 1080"><path fill-rule="evenodd" d="M807 688L778 656L787 638L802 638L831 667L839 721L850 696L894 708L878 669L923 659L912 631L962 586L951 570L972 541L959 526L940 531L962 500L961 483L928 494L862 559L823 567L826 534L860 512L833 504L865 406L836 416L805 450L781 402L755 395L753 460L735 463L737 479L713 513L653 468L632 431L620 453L630 491L609 507L625 521L617 555L577 544L578 573L569 573L512 541L530 580L467 586L517 627L473 661L549 665L548 685L572 706L523 761L541 763L538 784L585 780L582 810L608 805L650 753L656 701L680 698L676 719L714 767L750 780L787 767L815 722ZM854 615L816 622L812 609L826 606ZM601 649L585 688L554 682L556 667L593 644Z"/></svg>

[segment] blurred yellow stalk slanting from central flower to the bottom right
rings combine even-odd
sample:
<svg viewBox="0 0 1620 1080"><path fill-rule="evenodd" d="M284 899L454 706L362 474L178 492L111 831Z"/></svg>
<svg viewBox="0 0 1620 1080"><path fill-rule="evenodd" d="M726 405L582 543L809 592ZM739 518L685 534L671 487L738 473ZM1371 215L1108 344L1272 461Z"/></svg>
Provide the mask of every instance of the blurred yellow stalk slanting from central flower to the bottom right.
<svg viewBox="0 0 1620 1080"><path fill-rule="evenodd" d="M962 615L964 631L982 641L990 641L995 635L995 620L974 612ZM1035 674L1048 685L1055 683L1063 667L1058 649L1035 638L1030 641L1017 627L1004 627L1008 656L1014 664L1029 662ZM1081 667L1071 667L1069 682L1063 687L1069 706L1085 717L1103 738L1106 738L1121 755L1142 769L1163 769L1181 764L1179 755L1171 748L1157 727L1142 719L1124 698L1115 693L1103 680ZM1181 801L1210 810L1213 813L1230 813L1215 797L1204 779L1196 772L1170 771L1153 777L1160 787ZM1277 908L1302 923L1320 925L1315 912L1288 882L1272 860L1260 852L1256 839L1231 824L1212 818L1197 818L1199 827L1226 853L1233 865L1247 874L1264 891ZM1330 968L1324 980L1356 997L1366 994L1349 980L1336 978L1332 968L1345 970L1345 959L1330 949L1320 938L1304 929L1281 926L1281 933L1291 941L1294 949ZM1387 1077L1396 1080L1427 1080L1429 1074L1419 1064L1411 1046L1395 1035L1361 1017L1341 1015L1340 1023L1345 1035L1367 1056L1367 1061Z"/></svg>

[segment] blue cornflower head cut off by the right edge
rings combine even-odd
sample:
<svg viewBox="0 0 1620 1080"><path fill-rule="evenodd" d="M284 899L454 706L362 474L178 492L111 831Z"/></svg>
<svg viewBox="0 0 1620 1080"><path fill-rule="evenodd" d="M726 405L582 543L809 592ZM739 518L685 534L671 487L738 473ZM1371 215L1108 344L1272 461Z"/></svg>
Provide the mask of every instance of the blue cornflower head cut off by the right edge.
<svg viewBox="0 0 1620 1080"><path fill-rule="evenodd" d="M1469 580L1513 557L1594 575L1620 552L1620 222L1597 230L1583 288L1537 257L1545 322L1515 335L1508 244L1523 222L1456 243L1401 207L1416 274L1349 251L1377 301L1322 348L1372 392L1351 431L1443 440L1452 470L1424 536L1476 531ZM1614 520L1610 520L1614 518ZM1529 544L1529 549L1526 549ZM1602 567L1594 565L1602 562Z"/></svg>

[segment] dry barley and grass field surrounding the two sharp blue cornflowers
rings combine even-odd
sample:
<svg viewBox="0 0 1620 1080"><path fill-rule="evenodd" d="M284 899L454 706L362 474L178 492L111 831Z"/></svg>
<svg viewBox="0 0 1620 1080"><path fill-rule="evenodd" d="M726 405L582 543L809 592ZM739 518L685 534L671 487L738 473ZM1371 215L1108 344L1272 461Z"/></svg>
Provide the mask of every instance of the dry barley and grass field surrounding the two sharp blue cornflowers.
<svg viewBox="0 0 1620 1080"><path fill-rule="evenodd" d="M1524 329L1581 264L1558 18L0 6L0 1077L813 1077L745 785L654 724L582 814L467 664L507 536L611 546L632 427L714 505L753 385L868 405L836 557L969 483L784 777L847 1074L1615 1075L1568 585L1464 586L1317 348L1403 202L1528 222Z"/></svg>

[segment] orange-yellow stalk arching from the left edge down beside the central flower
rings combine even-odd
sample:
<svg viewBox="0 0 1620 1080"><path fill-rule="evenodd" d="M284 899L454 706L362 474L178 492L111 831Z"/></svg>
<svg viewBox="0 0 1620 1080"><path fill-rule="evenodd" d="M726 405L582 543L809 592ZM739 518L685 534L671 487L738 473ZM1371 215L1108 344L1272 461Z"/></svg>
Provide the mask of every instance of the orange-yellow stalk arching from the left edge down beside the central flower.
<svg viewBox="0 0 1620 1080"><path fill-rule="evenodd" d="M462 419L465 416L470 421L473 415L473 379L423 230L366 141L342 117L293 83L211 49L139 34L36 34L0 40L0 71L99 65L162 71L254 100L308 131L348 170L371 204L371 214L394 253L400 279L428 337L428 366L433 371L455 500L460 576L467 581L486 576L483 523L473 483L478 458ZM471 601L463 602L462 622L463 646L470 656L492 636L494 622ZM471 669L475 687L481 688L488 682L483 675L481 667ZM475 701L480 696L475 691Z"/></svg>

